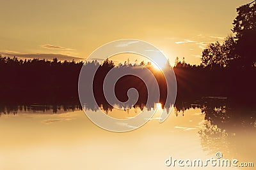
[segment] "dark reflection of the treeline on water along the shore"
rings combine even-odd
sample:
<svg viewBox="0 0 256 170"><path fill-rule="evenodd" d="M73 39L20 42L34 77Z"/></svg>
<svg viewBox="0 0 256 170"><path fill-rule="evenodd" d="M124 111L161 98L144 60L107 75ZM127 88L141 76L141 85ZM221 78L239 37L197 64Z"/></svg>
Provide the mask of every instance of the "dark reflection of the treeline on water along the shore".
<svg viewBox="0 0 256 170"><path fill-rule="evenodd" d="M127 118L129 115L138 115L141 111L156 110L161 108L162 110L169 110L172 108L170 104L166 104L168 107L163 107L161 103L150 104L147 107L145 104L136 104L130 108L125 106L111 106L108 103L100 104L100 107L95 105L84 105L85 110L91 111L104 111L107 115L115 117L118 112L119 118ZM216 125L220 129L225 131L232 131L232 129L244 129L244 131L256 129L256 106L246 106L245 104L237 104L227 99L227 97L202 97L193 101L176 101L174 105L174 113L184 115L186 110L200 109L201 113L205 115L204 119L211 125ZM22 105L22 106L1 106L0 115L17 113L64 113L67 111L82 110L82 107L77 105ZM116 113L117 114L117 113ZM209 129L209 125L205 124L205 127Z"/></svg>

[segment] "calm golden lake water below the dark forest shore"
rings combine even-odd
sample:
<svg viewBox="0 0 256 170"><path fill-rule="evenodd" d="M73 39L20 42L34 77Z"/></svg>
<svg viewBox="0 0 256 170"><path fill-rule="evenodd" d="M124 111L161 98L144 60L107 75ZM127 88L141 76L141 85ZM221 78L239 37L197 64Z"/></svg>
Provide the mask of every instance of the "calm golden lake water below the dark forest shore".
<svg viewBox="0 0 256 170"><path fill-rule="evenodd" d="M143 127L117 133L100 129L76 107L45 110L34 106L41 108L39 111L22 107L5 113L2 110L0 169L184 169L166 167L164 160L170 156L206 160L215 158L216 152L221 152L223 159L256 164L255 120L249 115L236 123L230 117L225 122L227 108L220 120L214 114L209 116L207 108L173 110L163 124L159 124L157 112ZM213 110L221 114L221 108ZM122 115L136 114L138 109L126 110ZM108 115L118 117L115 110L108 111Z"/></svg>

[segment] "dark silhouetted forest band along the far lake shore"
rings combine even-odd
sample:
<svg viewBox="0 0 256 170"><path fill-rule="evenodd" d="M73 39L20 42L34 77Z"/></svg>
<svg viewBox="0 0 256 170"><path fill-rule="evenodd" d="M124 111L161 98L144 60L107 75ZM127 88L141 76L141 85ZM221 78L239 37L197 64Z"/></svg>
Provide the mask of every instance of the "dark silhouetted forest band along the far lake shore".
<svg viewBox="0 0 256 170"><path fill-rule="evenodd" d="M81 67L97 67L99 62L60 62L49 60L18 60L17 58L0 58L0 94L1 104L77 104L79 103L77 82ZM106 104L103 94L103 81L115 65L106 60L99 66L93 81L93 91L97 103ZM150 64L146 66L119 64L120 71L150 69L160 88L160 100L166 100L166 81L161 71L156 71ZM164 71L170 71L166 66ZM190 101L205 96L224 96L232 101L255 104L255 67L232 68L190 66L178 62L173 70L177 79L177 103ZM136 104L147 102L147 87L134 76L124 76L116 83L116 97L127 100L127 90L134 87L139 92ZM151 104L154 106L154 103ZM93 108L94 106L92 106Z"/></svg>

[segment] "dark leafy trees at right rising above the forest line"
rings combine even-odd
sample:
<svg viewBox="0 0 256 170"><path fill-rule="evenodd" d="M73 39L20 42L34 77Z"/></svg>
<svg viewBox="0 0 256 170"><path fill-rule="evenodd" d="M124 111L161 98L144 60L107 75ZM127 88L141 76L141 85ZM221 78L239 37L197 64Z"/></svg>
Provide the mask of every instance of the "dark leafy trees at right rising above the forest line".
<svg viewBox="0 0 256 170"><path fill-rule="evenodd" d="M212 67L255 67L256 1L237 8L232 32L223 44L211 43L202 52L202 64Z"/></svg>

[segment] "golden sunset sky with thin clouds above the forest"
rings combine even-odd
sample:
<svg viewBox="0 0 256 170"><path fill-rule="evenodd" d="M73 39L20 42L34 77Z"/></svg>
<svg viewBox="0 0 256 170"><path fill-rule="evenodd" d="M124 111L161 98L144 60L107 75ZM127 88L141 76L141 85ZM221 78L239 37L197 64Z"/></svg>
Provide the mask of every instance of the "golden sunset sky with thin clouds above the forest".
<svg viewBox="0 0 256 170"><path fill-rule="evenodd" d="M109 41L140 39L171 63L200 64L202 50L232 33L236 8L251 1L0 0L0 53L85 60Z"/></svg>

